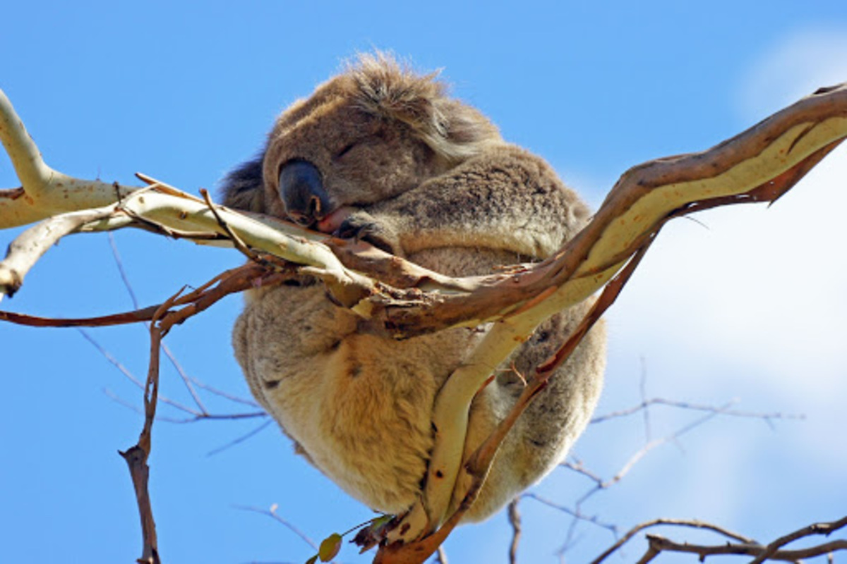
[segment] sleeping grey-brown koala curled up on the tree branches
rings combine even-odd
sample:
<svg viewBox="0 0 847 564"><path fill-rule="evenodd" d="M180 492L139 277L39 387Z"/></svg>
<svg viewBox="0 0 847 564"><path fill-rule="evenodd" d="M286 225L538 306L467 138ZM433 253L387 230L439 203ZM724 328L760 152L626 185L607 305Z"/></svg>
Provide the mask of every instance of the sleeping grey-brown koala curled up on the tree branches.
<svg viewBox="0 0 847 564"><path fill-rule="evenodd" d="M261 155L222 188L230 207L365 240L454 277L542 260L590 216L546 162L504 141L435 74L379 52L282 112ZM553 315L490 367L495 378L471 407L466 457L510 411L523 375L589 307ZM423 487L435 397L489 329L377 337L304 276L251 290L233 343L252 394L296 452L369 507L399 513ZM595 326L509 432L464 521L490 516L562 461L595 408L605 348Z"/></svg>

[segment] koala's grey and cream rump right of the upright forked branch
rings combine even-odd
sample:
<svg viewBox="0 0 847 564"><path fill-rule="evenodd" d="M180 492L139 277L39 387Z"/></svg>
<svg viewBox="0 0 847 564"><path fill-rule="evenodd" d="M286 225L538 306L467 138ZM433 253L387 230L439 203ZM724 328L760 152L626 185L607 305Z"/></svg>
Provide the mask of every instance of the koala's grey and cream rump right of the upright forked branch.
<svg viewBox="0 0 847 564"><path fill-rule="evenodd" d="M523 378L550 357L576 328L590 304L580 304L545 321L501 374L474 400L465 456L495 429L523 391ZM606 329L602 321L551 376L502 442L477 501L465 521L480 521L499 510L562 462L589 423L606 368Z"/></svg>

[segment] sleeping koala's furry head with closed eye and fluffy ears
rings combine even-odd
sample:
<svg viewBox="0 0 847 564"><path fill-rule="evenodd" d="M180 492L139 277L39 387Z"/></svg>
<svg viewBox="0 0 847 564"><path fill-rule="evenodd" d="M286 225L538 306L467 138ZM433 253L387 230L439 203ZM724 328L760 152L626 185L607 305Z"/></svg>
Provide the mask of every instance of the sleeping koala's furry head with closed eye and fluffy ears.
<svg viewBox="0 0 847 564"><path fill-rule="evenodd" d="M224 203L308 226L341 206L402 194L502 142L435 74L362 55L280 115L261 159L224 180Z"/></svg>

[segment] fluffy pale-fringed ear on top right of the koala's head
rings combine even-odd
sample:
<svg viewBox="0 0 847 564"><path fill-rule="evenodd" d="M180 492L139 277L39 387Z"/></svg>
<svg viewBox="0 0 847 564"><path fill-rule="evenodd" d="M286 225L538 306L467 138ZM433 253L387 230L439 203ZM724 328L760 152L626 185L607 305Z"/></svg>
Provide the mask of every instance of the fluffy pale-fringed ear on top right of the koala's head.
<svg viewBox="0 0 847 564"><path fill-rule="evenodd" d="M438 73L416 74L385 52L365 53L347 68L364 110L407 123L433 151L450 160L477 156L503 142L480 112L447 96Z"/></svg>

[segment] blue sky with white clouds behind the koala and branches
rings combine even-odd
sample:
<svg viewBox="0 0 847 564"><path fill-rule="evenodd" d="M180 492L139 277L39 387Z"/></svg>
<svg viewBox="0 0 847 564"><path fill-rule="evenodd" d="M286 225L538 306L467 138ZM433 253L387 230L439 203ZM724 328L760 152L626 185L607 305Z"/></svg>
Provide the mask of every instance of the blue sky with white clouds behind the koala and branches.
<svg viewBox="0 0 847 564"><path fill-rule="evenodd" d="M192 192L215 187L257 151L277 112L345 57L373 48L424 70L443 68L456 96L595 204L628 167L706 149L817 86L847 80L840 1L23 4L3 8L0 88L47 162L123 183L146 172ZM805 413L805 421L770 428L713 419L650 452L584 512L623 529L697 517L762 540L844 515L845 178L841 149L770 210L711 211L699 223L668 226L609 318L598 413L638 402L645 375L649 397L716 405L737 398L739 409ZM16 185L0 156L0 187ZM0 245L14 233L0 233ZM234 252L143 233L115 240L141 304L241 262ZM175 329L168 344L191 375L246 397L229 345L239 305L237 297L219 304ZM130 307L104 235L63 241L3 301L54 316ZM145 373L143 328L91 335L128 370ZM4 558L134 561L136 507L116 451L133 444L141 418L112 397L138 405L140 392L75 330L0 325L0 353ZM163 374L163 394L191 401L173 370ZM204 399L216 413L250 409ZM656 408L652 436L696 417ZM280 516L313 539L371 516L293 457L273 426L209 456L259 424L157 424L151 488L165 561L311 555L279 523L239 506L277 503ZM575 454L611 477L644 441L641 417L595 424ZM557 470L536 491L569 506L589 487ZM533 500L522 507L521 561L556 561L567 516ZM448 556L506 561L508 534L502 516L461 528ZM568 562L612 542L585 523L575 538ZM640 550L634 545L617 561L633 561ZM339 561L369 556L348 548Z"/></svg>

